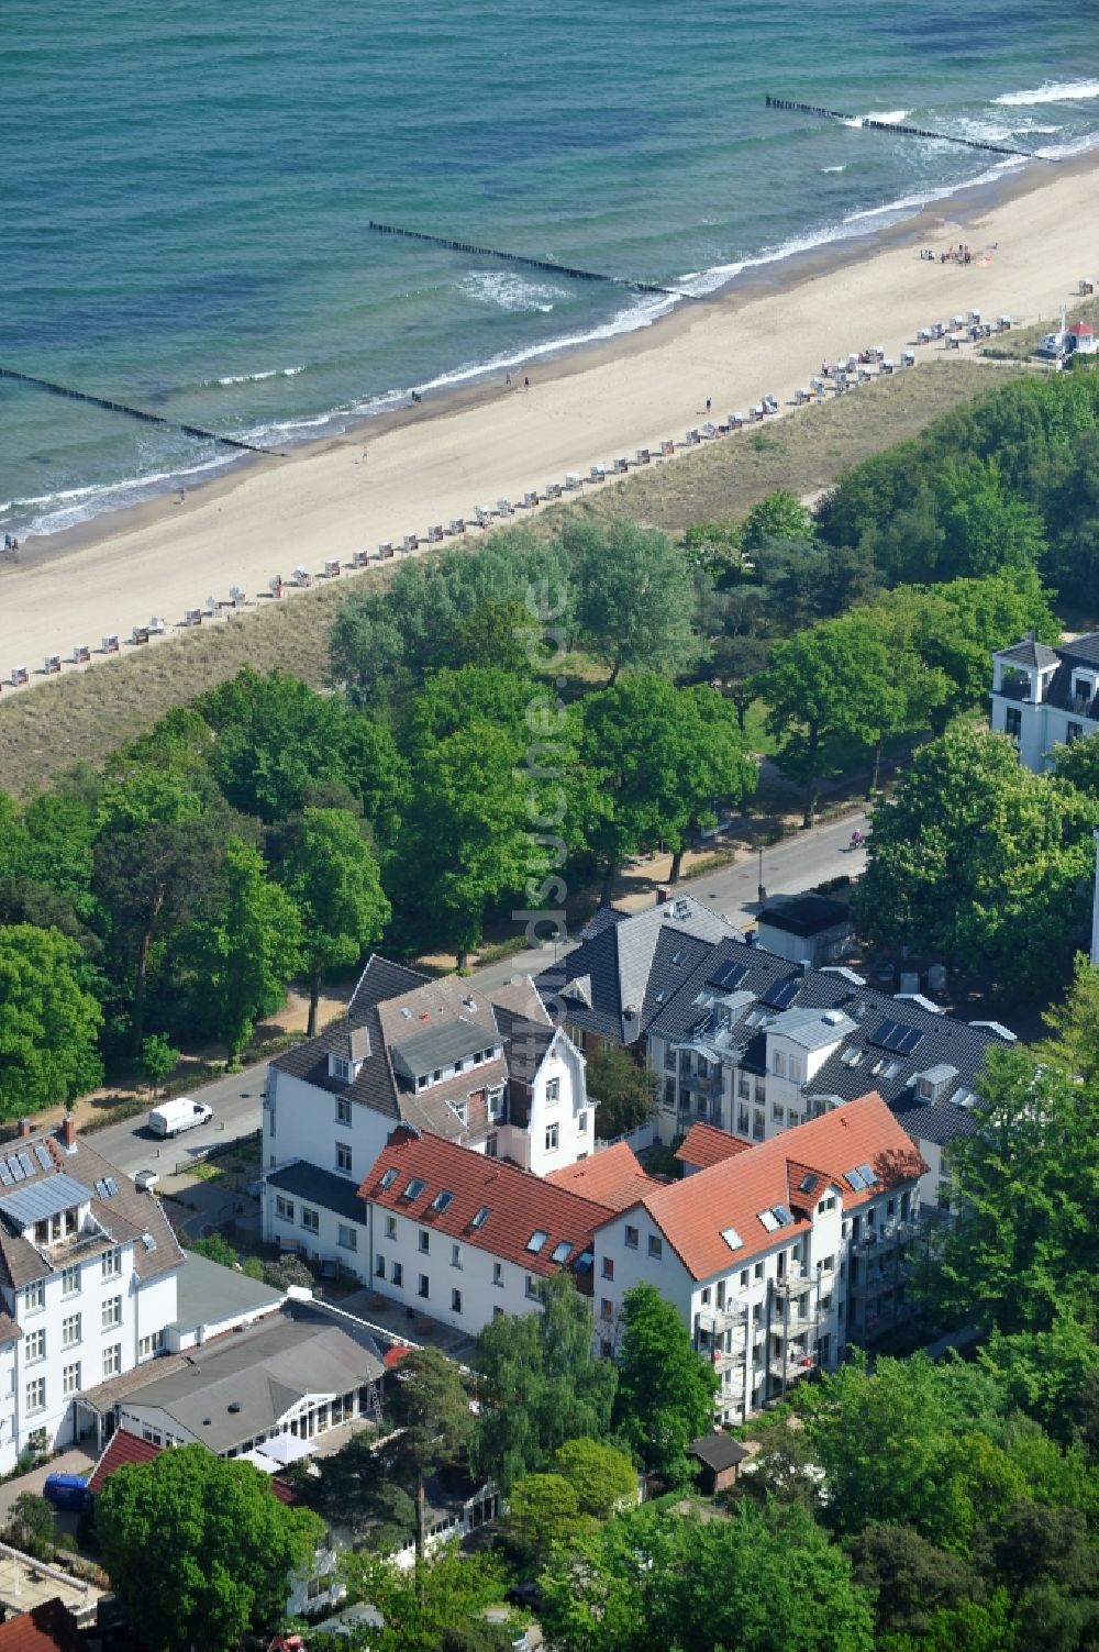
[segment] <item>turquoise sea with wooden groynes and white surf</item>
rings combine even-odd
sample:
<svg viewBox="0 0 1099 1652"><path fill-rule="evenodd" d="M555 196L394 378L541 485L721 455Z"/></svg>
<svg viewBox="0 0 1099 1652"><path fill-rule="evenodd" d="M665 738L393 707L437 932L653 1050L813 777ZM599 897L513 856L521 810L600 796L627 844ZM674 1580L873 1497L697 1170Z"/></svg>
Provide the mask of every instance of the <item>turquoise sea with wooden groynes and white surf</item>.
<svg viewBox="0 0 1099 1652"><path fill-rule="evenodd" d="M0 365L261 443L711 291L1099 140L1096 0L7 0ZM1008 164L1015 165L1015 164ZM223 449L0 380L0 517L71 527Z"/></svg>

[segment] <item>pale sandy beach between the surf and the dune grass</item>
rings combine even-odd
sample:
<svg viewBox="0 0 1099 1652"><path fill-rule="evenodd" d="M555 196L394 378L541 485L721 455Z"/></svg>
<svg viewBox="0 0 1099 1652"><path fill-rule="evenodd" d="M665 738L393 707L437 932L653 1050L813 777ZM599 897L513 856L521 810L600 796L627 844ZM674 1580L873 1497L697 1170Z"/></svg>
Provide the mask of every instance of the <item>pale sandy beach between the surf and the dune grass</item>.
<svg viewBox="0 0 1099 1652"><path fill-rule="evenodd" d="M126 649L132 626L152 615L175 633L187 608L228 596L230 585L255 598L276 573L289 578L301 565L317 575L326 560L345 563L380 540L400 545L501 496L514 504L567 471L610 471L620 454L633 459L661 438L681 443L704 421L707 396L716 421L747 413L764 393L785 411L823 358L878 344L899 358L934 320L980 309L1053 327L1079 278L1099 274L1097 223L1099 157L1028 167L995 193L963 192L874 241L757 269L611 345L535 362L529 390L519 370L511 390L481 385L288 458L248 461L183 502L159 499L25 540L18 563L0 563L0 679L26 666L30 682L41 682L45 657L68 659L81 643L96 664L106 634L119 633ZM922 246L962 241L975 253L967 266L919 258ZM921 347L917 363L942 350Z"/></svg>

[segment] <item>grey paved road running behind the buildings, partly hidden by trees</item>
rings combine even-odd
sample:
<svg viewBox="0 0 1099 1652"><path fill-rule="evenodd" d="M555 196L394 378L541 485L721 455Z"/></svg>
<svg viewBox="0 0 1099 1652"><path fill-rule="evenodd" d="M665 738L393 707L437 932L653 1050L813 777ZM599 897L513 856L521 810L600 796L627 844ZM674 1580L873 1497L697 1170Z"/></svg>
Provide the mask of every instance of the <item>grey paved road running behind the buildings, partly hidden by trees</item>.
<svg viewBox="0 0 1099 1652"><path fill-rule="evenodd" d="M787 838L773 849L764 849L764 884L768 897L795 895L813 884L843 872L858 876L866 866L866 851L851 851L851 833L856 826L866 831L866 816L851 814L843 821L816 826L813 831ZM722 867L706 877L692 877L679 885L704 900L737 928L747 928L759 914L759 856L749 854L734 866ZM569 943L575 945L575 943ZM569 950L559 948L559 957ZM512 975L537 975L554 961L554 947L512 953L511 958L478 970L476 981L483 986L501 986ZM259 1128L259 1105L266 1080L266 1064L195 1090L213 1107L213 1120L174 1142L157 1140L144 1117L132 1118L107 1130L98 1130L96 1146L121 1170L132 1175L137 1170L157 1170L170 1175L177 1165L221 1142L250 1135Z"/></svg>

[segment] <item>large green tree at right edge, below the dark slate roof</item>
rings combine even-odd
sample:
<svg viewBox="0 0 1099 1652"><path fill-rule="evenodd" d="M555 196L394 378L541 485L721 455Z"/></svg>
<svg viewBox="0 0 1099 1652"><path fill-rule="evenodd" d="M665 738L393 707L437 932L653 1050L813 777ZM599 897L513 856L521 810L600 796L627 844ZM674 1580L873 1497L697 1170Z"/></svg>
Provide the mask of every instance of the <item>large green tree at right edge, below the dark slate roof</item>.
<svg viewBox="0 0 1099 1652"><path fill-rule="evenodd" d="M932 1294L1008 1335L1064 1315L1094 1335L1099 1095L1026 1049L992 1051L978 1090L975 1130L950 1151L960 1214Z"/></svg>

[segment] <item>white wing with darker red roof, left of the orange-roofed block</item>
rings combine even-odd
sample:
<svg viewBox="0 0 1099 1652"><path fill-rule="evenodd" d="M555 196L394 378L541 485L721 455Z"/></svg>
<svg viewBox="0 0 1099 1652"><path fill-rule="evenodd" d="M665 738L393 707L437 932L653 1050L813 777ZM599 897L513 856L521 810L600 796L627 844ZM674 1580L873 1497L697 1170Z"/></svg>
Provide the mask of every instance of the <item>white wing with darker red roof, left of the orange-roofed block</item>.
<svg viewBox="0 0 1099 1652"><path fill-rule="evenodd" d="M592 1234L610 1208L504 1160L402 1127L359 1194L362 1277L471 1336L539 1308L539 1284L562 1270L592 1294Z"/></svg>

